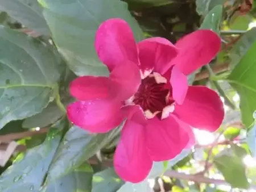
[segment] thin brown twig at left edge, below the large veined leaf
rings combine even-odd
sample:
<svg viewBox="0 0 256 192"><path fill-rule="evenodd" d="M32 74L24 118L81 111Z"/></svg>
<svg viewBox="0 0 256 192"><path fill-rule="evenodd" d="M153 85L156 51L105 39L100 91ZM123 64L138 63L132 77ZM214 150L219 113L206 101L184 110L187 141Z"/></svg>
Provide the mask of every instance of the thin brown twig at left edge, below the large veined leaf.
<svg viewBox="0 0 256 192"><path fill-rule="evenodd" d="M7 134L7 135L1 135L0 136L0 141L8 143L8 142L16 140L16 139L22 139L24 137L31 137L31 136L34 136L34 135L40 135L42 133L47 133L48 128L49 127L43 127L43 128L40 128L39 131L24 131L24 132L20 132L20 133L10 133L10 134Z"/></svg>

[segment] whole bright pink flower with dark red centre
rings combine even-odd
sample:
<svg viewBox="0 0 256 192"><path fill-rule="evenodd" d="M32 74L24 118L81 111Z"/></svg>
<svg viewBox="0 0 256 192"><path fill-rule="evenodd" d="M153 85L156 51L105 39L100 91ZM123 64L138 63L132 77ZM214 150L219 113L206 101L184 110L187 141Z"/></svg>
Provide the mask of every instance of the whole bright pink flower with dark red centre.
<svg viewBox="0 0 256 192"><path fill-rule="evenodd" d="M126 119L114 155L119 176L147 177L153 161L170 160L193 145L192 127L216 131L224 118L218 94L188 86L187 75L208 64L220 50L218 35L197 30L173 45L162 37L135 43L122 19L98 28L95 47L109 77L79 77L70 85L78 101L68 118L90 132L104 133Z"/></svg>

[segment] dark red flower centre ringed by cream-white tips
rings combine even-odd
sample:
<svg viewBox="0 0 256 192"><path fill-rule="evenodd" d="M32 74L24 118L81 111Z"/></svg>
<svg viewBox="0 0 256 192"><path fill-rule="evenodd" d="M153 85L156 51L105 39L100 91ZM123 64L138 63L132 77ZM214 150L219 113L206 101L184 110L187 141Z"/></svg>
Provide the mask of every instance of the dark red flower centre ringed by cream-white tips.
<svg viewBox="0 0 256 192"><path fill-rule="evenodd" d="M167 79L159 73L152 72L142 80L133 97L133 103L142 107L148 119L154 116L163 119L174 111L174 99L171 95L172 87Z"/></svg>

